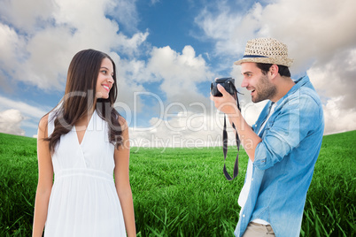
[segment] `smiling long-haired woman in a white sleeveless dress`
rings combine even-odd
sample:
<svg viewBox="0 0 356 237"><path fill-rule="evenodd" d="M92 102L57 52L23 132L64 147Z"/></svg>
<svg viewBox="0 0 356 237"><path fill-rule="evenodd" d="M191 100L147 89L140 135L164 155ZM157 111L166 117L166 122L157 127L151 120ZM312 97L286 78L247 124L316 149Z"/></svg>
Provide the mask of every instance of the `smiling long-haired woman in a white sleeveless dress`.
<svg viewBox="0 0 356 237"><path fill-rule="evenodd" d="M112 107L115 82L103 52L72 59L66 95L38 127L34 237L44 226L50 237L135 236L128 125Z"/></svg>

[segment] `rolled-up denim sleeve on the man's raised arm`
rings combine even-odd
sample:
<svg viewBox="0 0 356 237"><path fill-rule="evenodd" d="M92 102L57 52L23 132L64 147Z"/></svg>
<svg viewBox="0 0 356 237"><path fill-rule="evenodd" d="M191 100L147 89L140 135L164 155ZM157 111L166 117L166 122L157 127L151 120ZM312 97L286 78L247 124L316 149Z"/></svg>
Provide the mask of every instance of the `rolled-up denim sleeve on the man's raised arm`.
<svg viewBox="0 0 356 237"><path fill-rule="evenodd" d="M321 105L312 96L293 95L267 121L253 165L266 170L282 161L321 122Z"/></svg>

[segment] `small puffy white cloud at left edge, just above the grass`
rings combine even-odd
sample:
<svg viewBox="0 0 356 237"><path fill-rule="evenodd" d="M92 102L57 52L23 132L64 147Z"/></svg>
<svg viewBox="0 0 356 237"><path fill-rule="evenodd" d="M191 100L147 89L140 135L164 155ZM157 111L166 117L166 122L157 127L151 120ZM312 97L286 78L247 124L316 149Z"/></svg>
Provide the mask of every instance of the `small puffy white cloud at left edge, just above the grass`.
<svg viewBox="0 0 356 237"><path fill-rule="evenodd" d="M25 135L20 127L22 120L24 117L18 110L0 111L0 133Z"/></svg>

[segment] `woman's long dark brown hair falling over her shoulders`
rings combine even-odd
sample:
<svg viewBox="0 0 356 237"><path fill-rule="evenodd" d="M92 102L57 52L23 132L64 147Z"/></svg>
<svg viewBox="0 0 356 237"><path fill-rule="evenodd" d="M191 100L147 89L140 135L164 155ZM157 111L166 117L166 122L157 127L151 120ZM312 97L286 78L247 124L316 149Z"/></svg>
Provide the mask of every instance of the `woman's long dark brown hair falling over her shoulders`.
<svg viewBox="0 0 356 237"><path fill-rule="evenodd" d="M108 99L96 99L97 76L104 58L112 61L114 83ZM61 135L71 131L74 124L93 108L100 118L108 123L109 141L118 149L122 144L122 128L118 121L120 114L112 106L118 96L117 93L116 68L112 58L97 50L78 52L68 68L65 96L54 109L54 131L45 139L50 141L50 151L53 153Z"/></svg>

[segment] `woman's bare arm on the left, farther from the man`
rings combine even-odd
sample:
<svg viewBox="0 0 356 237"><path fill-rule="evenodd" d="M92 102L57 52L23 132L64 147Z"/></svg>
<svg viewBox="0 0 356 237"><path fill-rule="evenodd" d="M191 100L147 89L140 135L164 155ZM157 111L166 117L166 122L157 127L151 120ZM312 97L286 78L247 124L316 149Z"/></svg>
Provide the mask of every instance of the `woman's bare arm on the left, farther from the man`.
<svg viewBox="0 0 356 237"><path fill-rule="evenodd" d="M49 141L43 141L48 136L48 115L41 119L37 132L38 184L35 195L35 214L32 236L42 236L47 218L50 191L53 185L53 166L50 157Z"/></svg>

